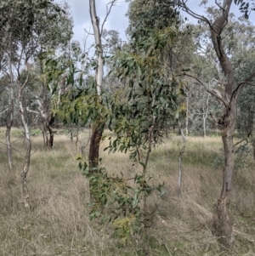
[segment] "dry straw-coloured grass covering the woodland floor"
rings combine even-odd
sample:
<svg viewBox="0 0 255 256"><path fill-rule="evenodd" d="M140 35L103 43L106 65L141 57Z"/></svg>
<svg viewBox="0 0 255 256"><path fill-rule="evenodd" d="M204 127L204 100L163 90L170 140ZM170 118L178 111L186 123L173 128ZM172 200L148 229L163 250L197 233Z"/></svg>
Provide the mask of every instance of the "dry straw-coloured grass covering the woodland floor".
<svg viewBox="0 0 255 256"><path fill-rule="evenodd" d="M4 143L3 132L0 141ZM112 236L109 226L88 218L88 182L76 160L76 145L66 135L55 135L53 151L32 138L28 187L32 210L27 211L20 190L24 159L20 131L14 130L13 174L8 172L5 147L0 147L0 256L143 255L139 237L126 247ZM88 135L82 134L86 144ZM106 145L107 141L104 142ZM181 139L172 134L152 151L149 172L155 183L164 182L163 196L152 195L155 218L149 230L151 255L255 255L255 169L251 159L235 173L230 217L235 223L235 251L221 248L210 222L221 190L220 138L191 138L183 162L183 196L177 196L178 151ZM104 148L102 145L101 148ZM85 152L85 157L88 152ZM102 152L109 173L132 177L140 172L127 155ZM215 164L216 163L216 164Z"/></svg>

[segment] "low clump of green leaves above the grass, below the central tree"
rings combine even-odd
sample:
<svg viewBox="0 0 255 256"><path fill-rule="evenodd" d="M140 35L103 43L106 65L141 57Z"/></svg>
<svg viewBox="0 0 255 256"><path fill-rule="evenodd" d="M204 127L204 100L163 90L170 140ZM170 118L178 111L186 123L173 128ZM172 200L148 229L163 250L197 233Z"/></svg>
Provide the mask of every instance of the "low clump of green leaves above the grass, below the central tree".
<svg viewBox="0 0 255 256"><path fill-rule="evenodd" d="M81 157L77 160L82 161ZM144 214L141 207L142 197L152 191L161 191L161 186L154 187L144 182L144 175L135 175L131 187L121 177L109 176L105 168L88 168L86 162L79 163L79 168L89 180L91 202L90 219L99 218L102 223L108 221L115 228L115 234L126 244L131 236L138 234L144 225Z"/></svg>

